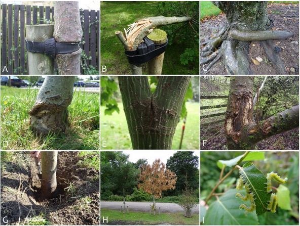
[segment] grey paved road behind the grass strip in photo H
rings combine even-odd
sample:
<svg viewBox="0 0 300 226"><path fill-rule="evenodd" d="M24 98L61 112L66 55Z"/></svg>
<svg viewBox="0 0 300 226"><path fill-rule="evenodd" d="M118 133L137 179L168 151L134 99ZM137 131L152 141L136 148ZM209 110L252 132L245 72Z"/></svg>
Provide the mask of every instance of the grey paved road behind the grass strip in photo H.
<svg viewBox="0 0 300 226"><path fill-rule="evenodd" d="M128 206L129 211L149 211L150 205L152 202L126 202L126 206ZM116 209L120 210L121 206L123 206L123 202L107 202L101 201L100 208L108 208L108 209ZM162 213L175 213L175 212L184 212L184 210L177 205L176 203L156 203L157 209L161 207ZM193 208L193 213L199 213L199 204L197 207Z"/></svg>

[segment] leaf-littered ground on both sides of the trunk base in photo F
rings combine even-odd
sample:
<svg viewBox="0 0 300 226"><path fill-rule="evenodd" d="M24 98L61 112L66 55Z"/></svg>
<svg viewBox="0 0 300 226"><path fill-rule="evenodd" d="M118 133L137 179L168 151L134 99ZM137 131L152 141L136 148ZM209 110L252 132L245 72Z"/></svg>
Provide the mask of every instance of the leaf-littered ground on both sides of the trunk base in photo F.
<svg viewBox="0 0 300 226"><path fill-rule="evenodd" d="M201 130L201 150L227 150L223 125L204 127ZM216 134L216 132L218 132ZM205 133L205 137L203 134ZM218 135L219 134L219 135ZM203 140L209 140L204 146ZM274 135L257 143L256 150L299 150L299 128Z"/></svg>

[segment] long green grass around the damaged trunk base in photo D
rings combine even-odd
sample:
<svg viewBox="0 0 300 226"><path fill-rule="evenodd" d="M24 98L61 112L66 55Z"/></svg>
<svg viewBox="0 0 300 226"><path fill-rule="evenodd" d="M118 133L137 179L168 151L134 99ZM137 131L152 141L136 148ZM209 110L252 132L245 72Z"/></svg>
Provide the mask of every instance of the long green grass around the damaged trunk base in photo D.
<svg viewBox="0 0 300 226"><path fill-rule="evenodd" d="M29 110L39 89L1 86L2 150L98 150L99 94L78 89L68 107L67 130L41 138L31 131ZM8 142L8 147L3 141ZM6 145L6 143L5 143Z"/></svg>

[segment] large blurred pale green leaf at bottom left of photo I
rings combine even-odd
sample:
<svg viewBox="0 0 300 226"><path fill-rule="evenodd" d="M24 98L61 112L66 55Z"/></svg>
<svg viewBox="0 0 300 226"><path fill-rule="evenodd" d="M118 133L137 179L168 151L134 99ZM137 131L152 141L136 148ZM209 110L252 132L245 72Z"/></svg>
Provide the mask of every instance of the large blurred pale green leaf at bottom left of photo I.
<svg viewBox="0 0 300 226"><path fill-rule="evenodd" d="M241 201L236 198L236 193L236 189L230 189L219 200L213 202L206 212L203 225L258 225L254 212L239 209L242 203L250 205L250 201ZM245 189L241 194L246 194Z"/></svg>

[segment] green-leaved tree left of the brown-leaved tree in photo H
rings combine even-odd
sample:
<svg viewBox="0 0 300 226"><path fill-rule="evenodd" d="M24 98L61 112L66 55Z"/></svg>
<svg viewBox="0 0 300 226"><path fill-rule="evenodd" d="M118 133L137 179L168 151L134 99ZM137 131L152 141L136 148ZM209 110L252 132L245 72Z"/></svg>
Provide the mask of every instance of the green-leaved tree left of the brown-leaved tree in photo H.
<svg viewBox="0 0 300 226"><path fill-rule="evenodd" d="M123 152L101 152L101 191L123 196L124 213L126 195L132 194L139 174L128 157Z"/></svg>

